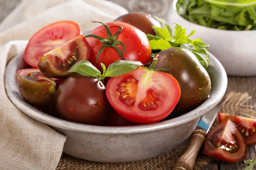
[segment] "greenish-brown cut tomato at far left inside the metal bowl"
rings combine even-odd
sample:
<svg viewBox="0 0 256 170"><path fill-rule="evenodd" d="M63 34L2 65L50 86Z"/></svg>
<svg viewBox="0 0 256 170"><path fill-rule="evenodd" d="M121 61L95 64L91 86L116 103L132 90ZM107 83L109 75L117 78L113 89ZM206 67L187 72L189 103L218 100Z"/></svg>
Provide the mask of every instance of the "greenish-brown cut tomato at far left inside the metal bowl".
<svg viewBox="0 0 256 170"><path fill-rule="evenodd" d="M56 83L39 69L23 69L16 75L20 95L26 102L36 106L54 102Z"/></svg>

